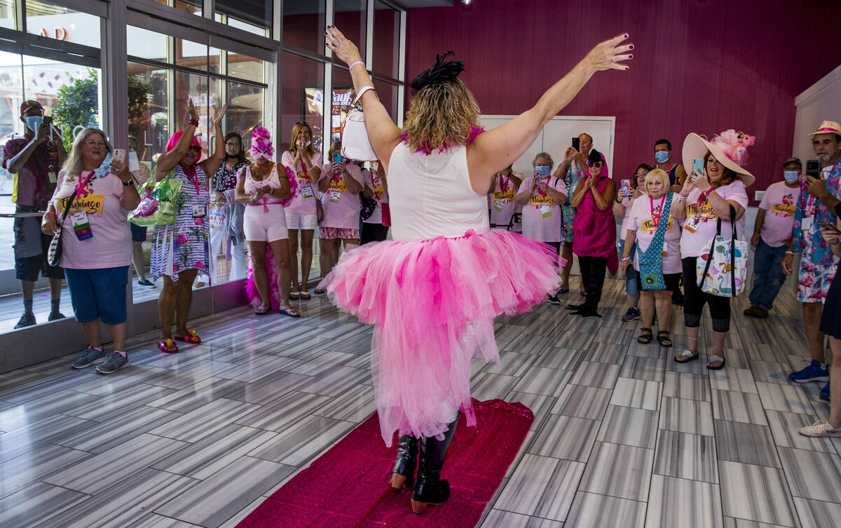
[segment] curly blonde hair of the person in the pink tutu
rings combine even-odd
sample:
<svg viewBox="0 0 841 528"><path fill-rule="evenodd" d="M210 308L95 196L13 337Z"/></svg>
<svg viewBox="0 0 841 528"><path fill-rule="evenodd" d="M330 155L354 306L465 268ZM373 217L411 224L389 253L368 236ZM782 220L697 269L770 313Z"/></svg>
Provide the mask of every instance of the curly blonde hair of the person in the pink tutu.
<svg viewBox="0 0 841 528"><path fill-rule="evenodd" d="M479 105L460 79L421 88L412 98L403 133L413 152L447 150L470 140L479 121Z"/></svg>

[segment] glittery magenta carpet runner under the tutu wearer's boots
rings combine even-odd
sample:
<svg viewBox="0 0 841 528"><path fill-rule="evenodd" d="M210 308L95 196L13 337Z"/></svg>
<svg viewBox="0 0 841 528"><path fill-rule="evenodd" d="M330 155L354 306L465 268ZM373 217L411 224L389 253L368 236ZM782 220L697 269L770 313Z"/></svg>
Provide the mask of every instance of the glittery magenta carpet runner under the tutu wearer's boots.
<svg viewBox="0 0 841 528"><path fill-rule="evenodd" d="M467 427L463 416L458 420L444 463L442 478L452 488L446 503L415 515L411 491L392 491L396 449L383 444L373 414L237 528L473 528L534 421L522 404L493 399L473 400L473 406L477 426Z"/></svg>

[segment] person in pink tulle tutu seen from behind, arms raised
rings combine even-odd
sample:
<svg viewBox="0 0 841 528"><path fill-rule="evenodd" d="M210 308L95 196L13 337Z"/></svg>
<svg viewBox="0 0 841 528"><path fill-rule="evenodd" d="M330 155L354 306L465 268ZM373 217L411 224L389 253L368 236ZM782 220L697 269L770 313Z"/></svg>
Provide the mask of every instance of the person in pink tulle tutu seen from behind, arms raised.
<svg viewBox="0 0 841 528"><path fill-rule="evenodd" d="M350 65L368 139L385 166L394 240L345 253L322 286L336 306L374 325L380 430L389 446L394 431L400 435L391 485L414 483L412 510L421 513L449 497L441 470L458 412L476 423L470 360L499 361L494 318L525 311L558 289L554 248L490 230L485 194L596 71L627 70L622 62L633 46L620 45L627 34L597 45L534 108L481 133L479 108L458 79L463 62L438 56L412 81L401 130L379 102L357 46L335 26L325 35Z"/></svg>

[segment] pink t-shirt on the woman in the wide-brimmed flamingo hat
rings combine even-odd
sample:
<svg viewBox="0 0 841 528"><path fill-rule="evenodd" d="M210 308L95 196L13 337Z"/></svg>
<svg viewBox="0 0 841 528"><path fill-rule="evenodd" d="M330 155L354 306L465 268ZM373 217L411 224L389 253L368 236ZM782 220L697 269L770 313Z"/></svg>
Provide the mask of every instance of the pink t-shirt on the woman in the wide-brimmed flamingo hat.
<svg viewBox="0 0 841 528"><path fill-rule="evenodd" d="M736 180L728 185L716 189L718 196L727 201L733 200L743 208L748 207L748 191L742 180ZM684 223L683 235L680 236L680 256L699 256L706 243L716 235L718 215L712 209L706 198L699 207L701 200L701 189L694 188L686 198L686 221ZM729 237L732 228L730 222L722 221L722 235ZM745 240L744 236L744 214L736 221L736 235L738 240Z"/></svg>

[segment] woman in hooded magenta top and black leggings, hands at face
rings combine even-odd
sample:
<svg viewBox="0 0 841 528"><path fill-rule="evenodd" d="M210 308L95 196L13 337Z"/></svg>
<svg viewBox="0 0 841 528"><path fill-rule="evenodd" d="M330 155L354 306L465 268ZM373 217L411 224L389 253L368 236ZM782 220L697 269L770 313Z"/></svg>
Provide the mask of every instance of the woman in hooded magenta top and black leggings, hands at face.
<svg viewBox="0 0 841 528"><path fill-rule="evenodd" d="M619 267L616 256L616 220L613 219L613 200L616 183L607 171L607 160L598 150L590 150L587 172L581 179L570 203L576 209L573 222L573 252L579 256L581 282L584 284L583 304L570 304L573 314L601 317L597 311L605 272L611 275Z"/></svg>

